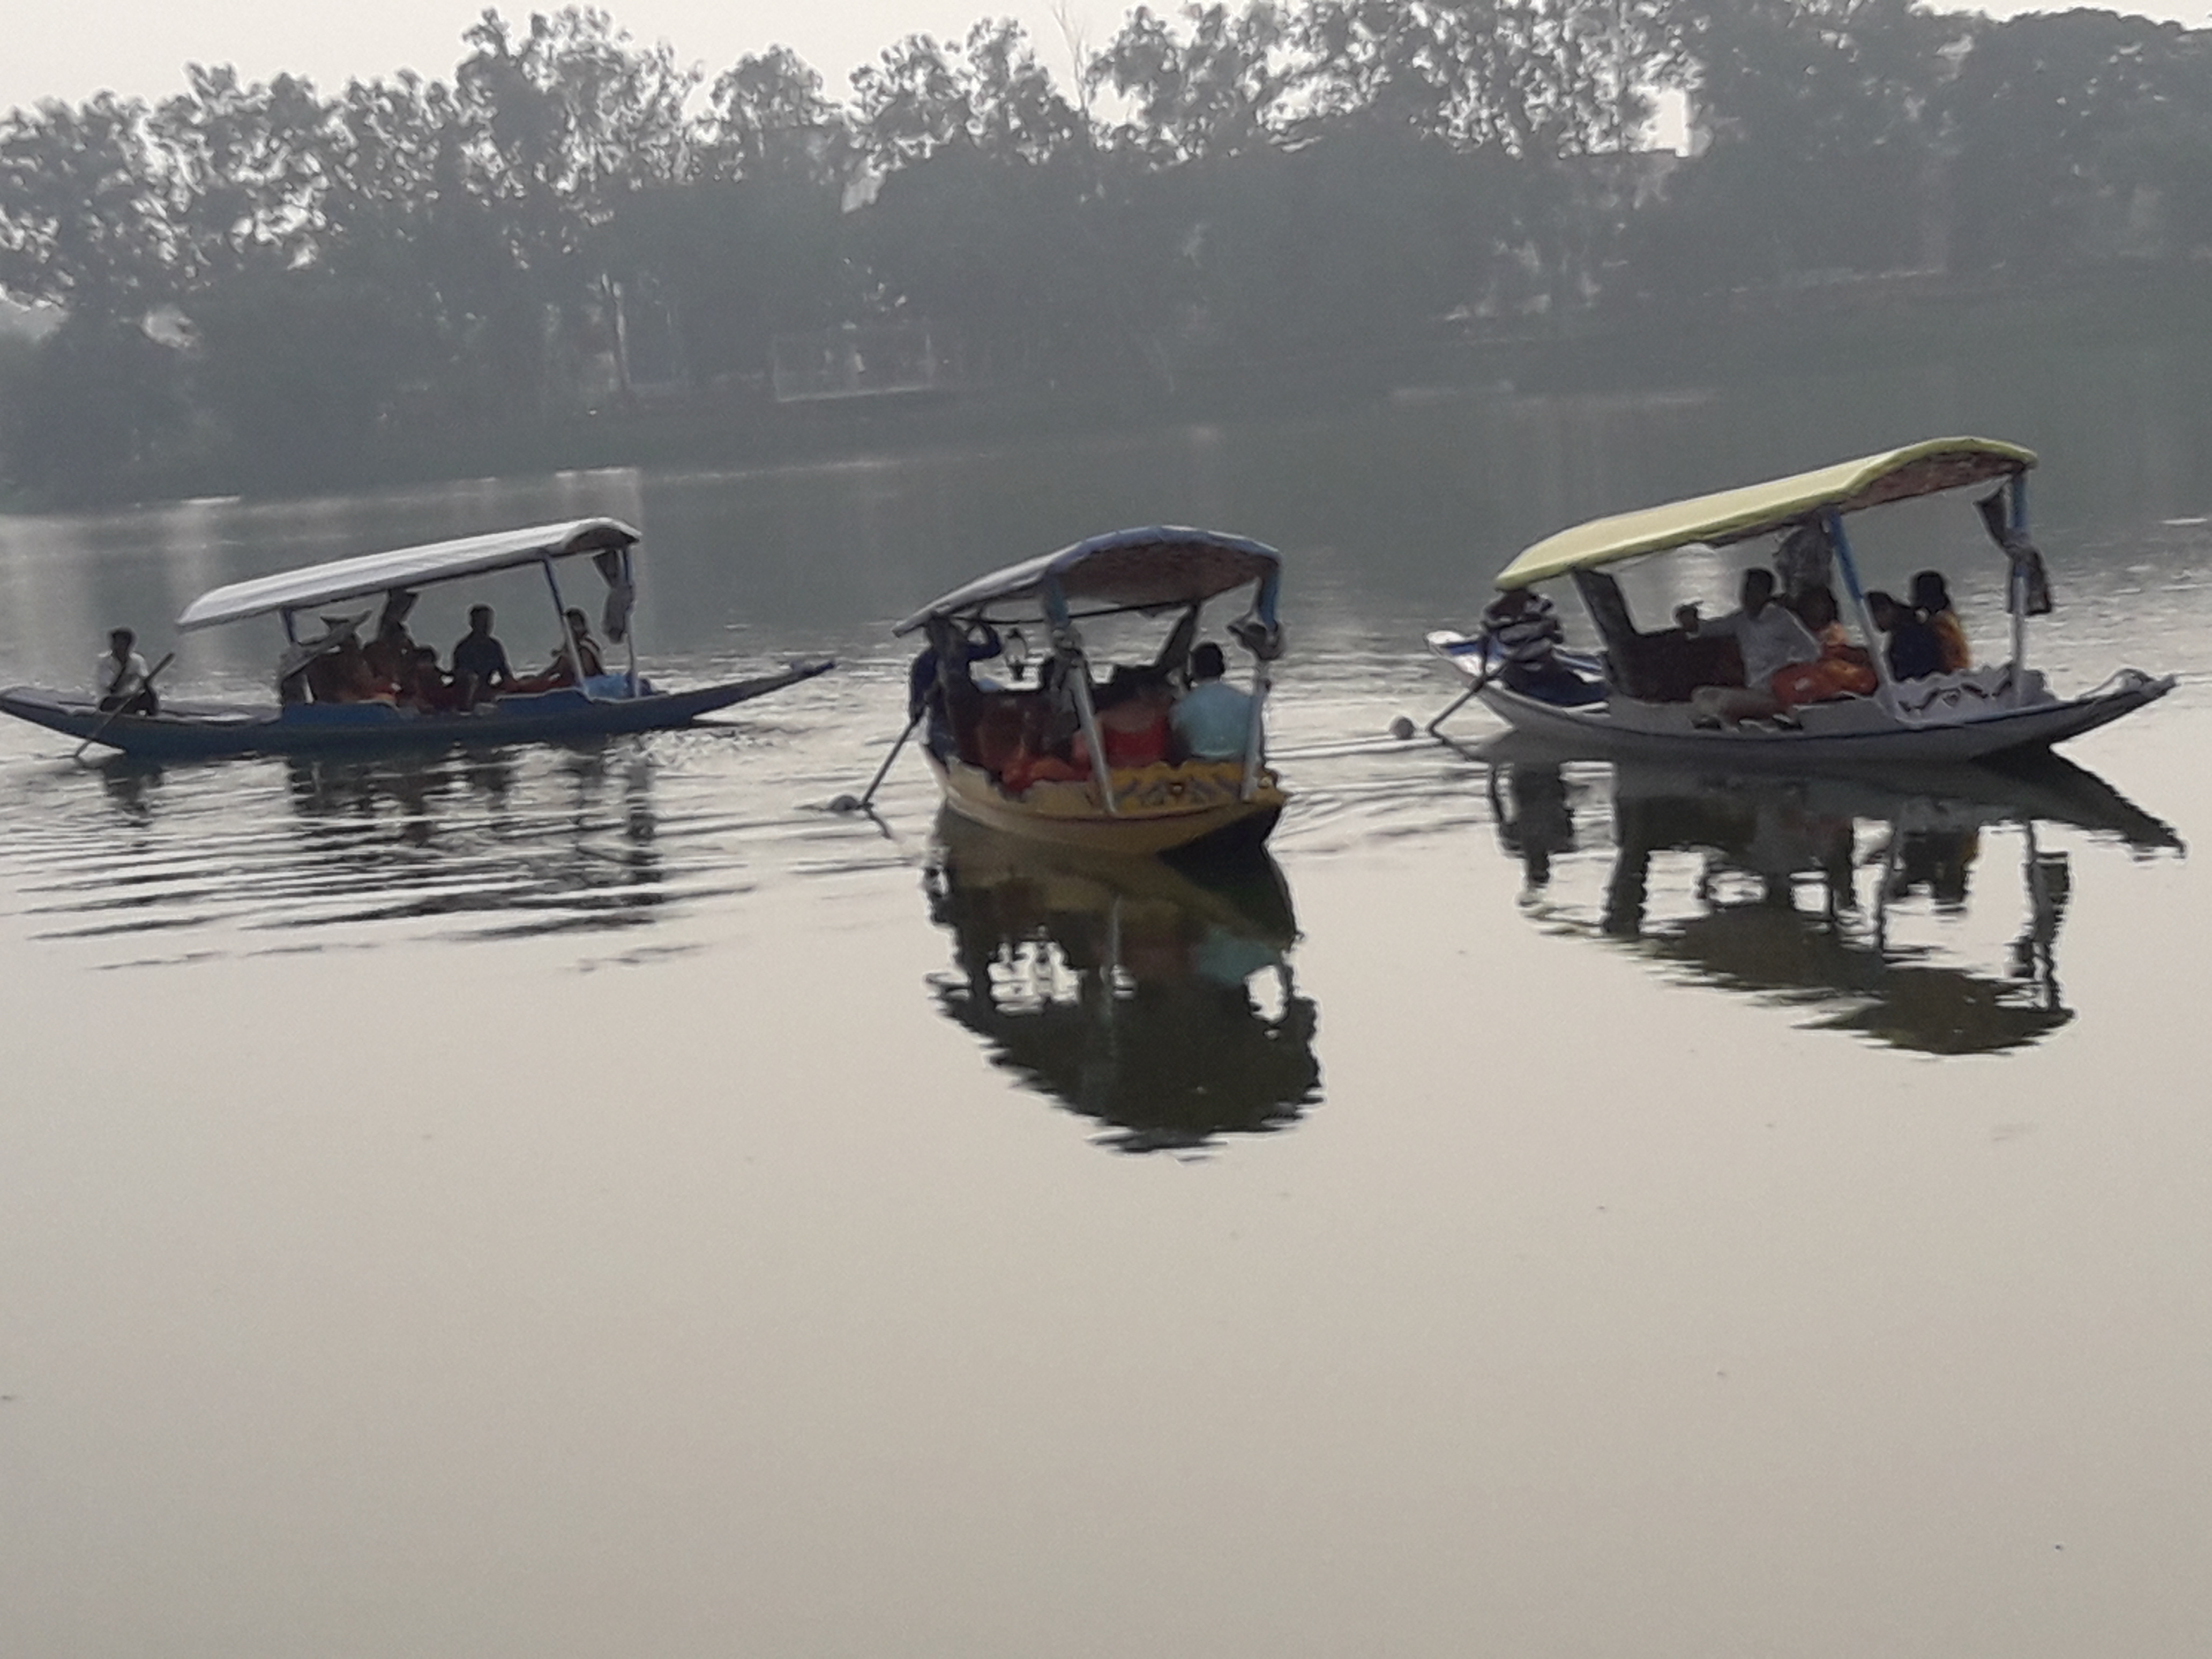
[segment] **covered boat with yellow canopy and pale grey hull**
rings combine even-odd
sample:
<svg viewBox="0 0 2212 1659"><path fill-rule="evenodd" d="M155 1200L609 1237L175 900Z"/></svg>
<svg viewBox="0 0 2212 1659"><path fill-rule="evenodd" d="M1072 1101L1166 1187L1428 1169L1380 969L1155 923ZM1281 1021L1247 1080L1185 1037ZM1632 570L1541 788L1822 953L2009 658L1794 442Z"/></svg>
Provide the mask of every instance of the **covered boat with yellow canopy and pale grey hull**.
<svg viewBox="0 0 2212 1659"><path fill-rule="evenodd" d="M2172 690L2172 677L2121 668L2077 697L2059 697L2028 666L2026 622L2051 608L2042 555L2028 542L2026 476L2035 453L1991 438L1931 438L1845 460L1818 471L1712 495L1590 520L1548 535L1498 573L1500 595L1571 580L1597 628L1597 655L1553 648L1524 604L1493 602L1478 635L1438 630L1429 650L1469 688L1429 730L1480 697L1509 726L1595 754L1725 757L1732 763L1975 761L2039 750ZM1975 509L2006 555L2011 657L2002 664L1902 679L1882 635L1845 533L1845 515L1869 507L1978 491ZM1858 626L1867 675L1860 692L1825 695L1772 717L1712 719L1697 699L1728 686L1730 666L1697 630L1644 630L1628 613L1615 566L1663 553L1783 538L1783 560L1812 549L1832 564ZM1798 553L1803 557L1803 553ZM1818 586L1825 586L1820 582ZM1787 599L1787 584L1785 584ZM1553 630L1555 637L1555 630ZM1732 653L1732 648L1730 648ZM1743 686L1741 659L1734 686Z"/></svg>

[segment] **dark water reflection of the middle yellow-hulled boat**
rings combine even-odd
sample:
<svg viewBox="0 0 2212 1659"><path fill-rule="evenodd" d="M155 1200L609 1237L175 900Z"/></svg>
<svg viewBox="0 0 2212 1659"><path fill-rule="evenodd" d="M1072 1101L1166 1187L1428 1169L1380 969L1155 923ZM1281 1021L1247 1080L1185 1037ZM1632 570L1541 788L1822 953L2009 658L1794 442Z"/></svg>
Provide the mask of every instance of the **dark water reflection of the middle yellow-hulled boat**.
<svg viewBox="0 0 2212 1659"><path fill-rule="evenodd" d="M929 916L956 971L929 984L995 1064L1106 1126L1124 1152L1296 1124L1321 1099L1316 1009L1263 852L1175 867L938 821Z"/></svg>

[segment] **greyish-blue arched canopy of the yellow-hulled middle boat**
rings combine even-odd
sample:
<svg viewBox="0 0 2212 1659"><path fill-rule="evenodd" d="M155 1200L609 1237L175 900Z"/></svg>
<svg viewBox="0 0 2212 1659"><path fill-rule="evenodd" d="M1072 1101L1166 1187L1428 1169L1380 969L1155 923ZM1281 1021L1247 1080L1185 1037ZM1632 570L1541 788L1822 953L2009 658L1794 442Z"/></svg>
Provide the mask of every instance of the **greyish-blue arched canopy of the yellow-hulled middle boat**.
<svg viewBox="0 0 2212 1659"><path fill-rule="evenodd" d="M1281 553L1241 535L1217 535L1177 524L1113 531L975 577L916 611L894 633L914 633L933 617L980 615L1000 602L1035 602L1042 613L1048 582L1057 582L1068 604L1091 602L1106 611L1161 611L1203 604L1248 582L1267 582L1281 568Z"/></svg>

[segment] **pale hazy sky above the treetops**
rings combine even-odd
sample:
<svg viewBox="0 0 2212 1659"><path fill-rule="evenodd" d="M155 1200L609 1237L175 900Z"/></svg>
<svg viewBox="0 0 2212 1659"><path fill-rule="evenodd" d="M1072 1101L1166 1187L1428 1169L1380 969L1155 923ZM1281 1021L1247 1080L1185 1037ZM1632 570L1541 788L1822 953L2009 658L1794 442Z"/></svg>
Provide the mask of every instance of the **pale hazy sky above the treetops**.
<svg viewBox="0 0 2212 1659"><path fill-rule="evenodd" d="M1175 0L1155 4L1166 11ZM2201 24L2208 7L2212 0L2154 0L2139 9ZM336 91L349 75L372 77L400 66L447 75L462 55L460 31L480 9L471 0L376 0L345 7L296 0L199 0L188 7L175 0L24 4L15 9L9 49L0 53L0 108L40 97L75 102L102 86L161 97L184 84L186 62L237 64L252 80L279 71L305 73L325 91ZM513 18L531 11L513 0L502 9ZM1128 4L1064 0L1064 9L1097 44L1113 33ZM1989 9L2008 15L2039 7L2000 2ZM1020 18L1055 73L1066 66L1053 0L761 0L752 7L622 0L608 11L639 40L668 40L681 60L703 62L710 77L748 51L787 44L823 71L838 95L845 91L845 75L898 35L960 35L982 15Z"/></svg>

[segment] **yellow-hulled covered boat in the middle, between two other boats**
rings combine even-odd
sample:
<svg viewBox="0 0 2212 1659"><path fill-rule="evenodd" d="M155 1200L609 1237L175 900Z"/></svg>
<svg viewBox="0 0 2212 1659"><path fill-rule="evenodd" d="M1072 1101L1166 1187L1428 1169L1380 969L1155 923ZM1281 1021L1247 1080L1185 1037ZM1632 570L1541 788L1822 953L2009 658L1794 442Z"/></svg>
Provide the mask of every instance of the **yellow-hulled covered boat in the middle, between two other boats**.
<svg viewBox="0 0 2212 1659"><path fill-rule="evenodd" d="M1214 852L1265 841L1285 803L1265 763L1267 688L1283 653L1274 615L1281 577L1283 557L1261 542L1148 526L1009 564L916 611L896 628L929 637L907 730L929 721L925 754L947 807L993 830L1099 852ZM1241 750L1203 759L1170 748L1124 763L1128 750L1117 752L1110 730L1115 690L1137 681L1133 695L1150 695L1161 708L1190 695L1206 653L1194 646L1201 613L1225 595L1248 595L1243 613L1225 624L1252 659ZM1104 684L1093 677L1086 624L1170 615L1150 664L1117 668ZM1024 628L1042 628L1046 641L1033 688L1020 684ZM973 679L969 666L993 657L1013 686ZM1093 765L1091 757L1106 763Z"/></svg>

